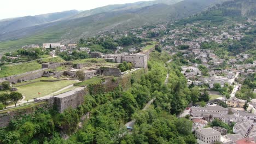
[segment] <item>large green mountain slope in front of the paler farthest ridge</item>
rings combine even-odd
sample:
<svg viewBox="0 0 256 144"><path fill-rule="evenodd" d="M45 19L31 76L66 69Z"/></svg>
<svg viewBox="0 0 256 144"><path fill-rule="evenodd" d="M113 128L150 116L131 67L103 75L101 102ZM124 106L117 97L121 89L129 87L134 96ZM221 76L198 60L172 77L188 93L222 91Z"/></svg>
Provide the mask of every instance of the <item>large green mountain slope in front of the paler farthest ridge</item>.
<svg viewBox="0 0 256 144"><path fill-rule="evenodd" d="M164 2L166 1L174 2L172 0L164 0ZM146 6L144 6L144 2L139 2L139 6L133 3L125 4L125 6L118 5L118 7L115 5L114 8L106 12L96 10L97 14L90 14L89 16L82 16L82 14L89 14L88 11L82 11L67 19L0 34L0 41L2 41L2 43L0 42L0 50L46 42L58 41L65 44L106 31L117 31L117 29L123 31L144 25L176 21L200 13L224 1L226 0L184 0L171 5L158 3L159 1L150 1L157 4L146 4ZM135 8L133 5L139 8ZM113 5L108 8L110 7L113 7Z"/></svg>

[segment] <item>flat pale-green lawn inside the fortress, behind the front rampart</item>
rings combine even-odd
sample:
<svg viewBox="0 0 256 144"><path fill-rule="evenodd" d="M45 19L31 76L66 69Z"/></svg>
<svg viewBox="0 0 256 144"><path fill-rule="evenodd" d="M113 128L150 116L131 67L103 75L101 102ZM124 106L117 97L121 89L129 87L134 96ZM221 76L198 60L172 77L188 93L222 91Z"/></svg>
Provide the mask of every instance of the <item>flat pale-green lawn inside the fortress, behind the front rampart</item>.
<svg viewBox="0 0 256 144"><path fill-rule="evenodd" d="M30 100L33 98L44 97L45 95L54 93L61 88L77 83L77 81L56 81L56 82L36 82L31 83L26 86L20 86L18 92L22 93L26 98L25 100ZM40 92L40 95L38 94Z"/></svg>

